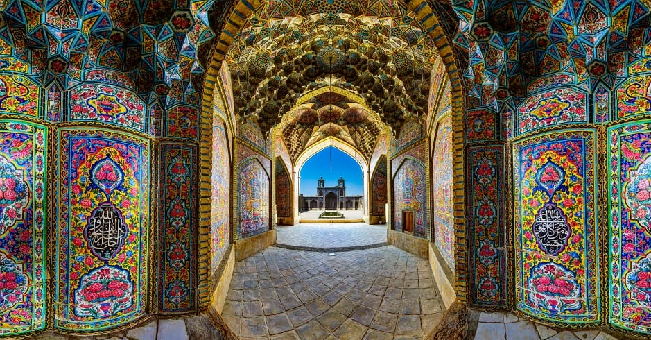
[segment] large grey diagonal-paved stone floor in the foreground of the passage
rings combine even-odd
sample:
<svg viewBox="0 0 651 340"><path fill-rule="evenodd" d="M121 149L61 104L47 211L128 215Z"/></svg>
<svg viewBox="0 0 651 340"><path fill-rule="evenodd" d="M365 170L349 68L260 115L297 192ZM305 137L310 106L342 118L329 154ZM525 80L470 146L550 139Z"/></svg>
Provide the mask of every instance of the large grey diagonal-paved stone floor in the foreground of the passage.
<svg viewBox="0 0 651 340"><path fill-rule="evenodd" d="M422 339L442 306L428 262L393 246L270 247L237 262L222 317L241 339Z"/></svg>

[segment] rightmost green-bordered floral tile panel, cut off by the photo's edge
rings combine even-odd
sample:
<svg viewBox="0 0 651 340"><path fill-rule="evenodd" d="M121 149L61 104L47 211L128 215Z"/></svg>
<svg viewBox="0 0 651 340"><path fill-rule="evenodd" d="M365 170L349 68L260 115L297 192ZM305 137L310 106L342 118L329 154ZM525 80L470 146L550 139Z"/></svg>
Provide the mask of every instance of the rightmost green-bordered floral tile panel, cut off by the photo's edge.
<svg viewBox="0 0 651 340"><path fill-rule="evenodd" d="M651 121L608 137L609 322L651 334Z"/></svg>

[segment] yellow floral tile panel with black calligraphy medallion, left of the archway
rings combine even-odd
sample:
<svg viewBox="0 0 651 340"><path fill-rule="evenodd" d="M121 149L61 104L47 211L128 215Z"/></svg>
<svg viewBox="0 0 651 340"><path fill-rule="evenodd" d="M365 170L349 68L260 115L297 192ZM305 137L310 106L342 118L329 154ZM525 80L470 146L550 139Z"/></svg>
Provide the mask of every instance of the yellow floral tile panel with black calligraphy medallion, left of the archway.
<svg viewBox="0 0 651 340"><path fill-rule="evenodd" d="M104 330L146 313L149 142L58 130L55 328Z"/></svg>

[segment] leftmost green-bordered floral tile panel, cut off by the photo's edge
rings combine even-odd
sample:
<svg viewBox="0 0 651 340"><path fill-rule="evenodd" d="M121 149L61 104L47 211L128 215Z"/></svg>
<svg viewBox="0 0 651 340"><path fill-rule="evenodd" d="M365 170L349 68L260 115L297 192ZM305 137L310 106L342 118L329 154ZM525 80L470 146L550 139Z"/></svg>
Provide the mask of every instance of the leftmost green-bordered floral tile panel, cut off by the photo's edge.
<svg viewBox="0 0 651 340"><path fill-rule="evenodd" d="M0 337L46 326L47 128L0 120Z"/></svg>

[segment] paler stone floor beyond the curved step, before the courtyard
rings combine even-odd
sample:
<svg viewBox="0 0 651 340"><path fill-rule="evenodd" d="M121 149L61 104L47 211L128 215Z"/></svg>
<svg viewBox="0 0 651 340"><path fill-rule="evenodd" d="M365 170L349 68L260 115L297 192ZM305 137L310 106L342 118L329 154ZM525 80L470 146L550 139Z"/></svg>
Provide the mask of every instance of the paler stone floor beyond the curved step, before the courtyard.
<svg viewBox="0 0 651 340"><path fill-rule="evenodd" d="M386 225L366 223L297 223L276 227L277 244L334 248L386 244Z"/></svg>

